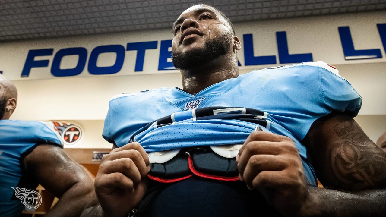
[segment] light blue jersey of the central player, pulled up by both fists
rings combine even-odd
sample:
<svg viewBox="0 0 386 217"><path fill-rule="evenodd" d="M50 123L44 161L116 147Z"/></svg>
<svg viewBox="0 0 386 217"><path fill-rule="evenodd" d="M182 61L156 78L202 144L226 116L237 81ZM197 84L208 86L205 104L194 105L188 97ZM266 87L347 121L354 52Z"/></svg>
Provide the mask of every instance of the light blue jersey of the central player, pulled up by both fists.
<svg viewBox="0 0 386 217"><path fill-rule="evenodd" d="M316 185L301 140L318 118L333 111L354 117L361 102L338 70L308 62L254 70L196 95L179 88L117 95L109 103L103 137L118 147L139 142L152 162L166 150L174 150L168 152L173 158L180 149L243 144L259 125L293 139L308 183Z"/></svg>

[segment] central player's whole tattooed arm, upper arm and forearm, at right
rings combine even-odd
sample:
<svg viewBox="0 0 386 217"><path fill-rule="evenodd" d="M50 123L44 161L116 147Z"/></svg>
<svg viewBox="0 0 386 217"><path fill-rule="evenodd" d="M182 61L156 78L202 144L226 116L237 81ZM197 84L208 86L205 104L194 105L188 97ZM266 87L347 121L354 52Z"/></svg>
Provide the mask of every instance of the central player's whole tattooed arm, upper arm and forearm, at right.
<svg viewBox="0 0 386 217"><path fill-rule="evenodd" d="M385 215L386 153L351 117L316 122L303 142L325 186L309 188L309 215Z"/></svg>

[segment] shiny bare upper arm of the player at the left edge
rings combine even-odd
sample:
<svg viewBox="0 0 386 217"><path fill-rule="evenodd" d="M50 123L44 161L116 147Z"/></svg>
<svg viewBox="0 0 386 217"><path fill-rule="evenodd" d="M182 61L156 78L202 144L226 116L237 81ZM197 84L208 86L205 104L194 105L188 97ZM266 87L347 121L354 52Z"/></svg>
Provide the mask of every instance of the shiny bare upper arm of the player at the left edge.
<svg viewBox="0 0 386 217"><path fill-rule="evenodd" d="M93 185L93 178L80 164L69 158L61 147L39 145L24 158L27 172L47 191L61 197L79 182Z"/></svg>

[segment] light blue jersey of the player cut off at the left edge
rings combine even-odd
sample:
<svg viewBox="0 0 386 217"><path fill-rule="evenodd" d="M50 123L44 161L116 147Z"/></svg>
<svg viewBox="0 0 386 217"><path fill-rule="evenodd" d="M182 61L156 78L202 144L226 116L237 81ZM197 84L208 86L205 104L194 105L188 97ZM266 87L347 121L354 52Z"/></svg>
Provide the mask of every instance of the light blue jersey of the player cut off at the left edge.
<svg viewBox="0 0 386 217"><path fill-rule="evenodd" d="M39 144L63 147L53 122L0 120L0 216L19 216L24 209L12 187L35 190L39 184L27 178L23 166Z"/></svg>

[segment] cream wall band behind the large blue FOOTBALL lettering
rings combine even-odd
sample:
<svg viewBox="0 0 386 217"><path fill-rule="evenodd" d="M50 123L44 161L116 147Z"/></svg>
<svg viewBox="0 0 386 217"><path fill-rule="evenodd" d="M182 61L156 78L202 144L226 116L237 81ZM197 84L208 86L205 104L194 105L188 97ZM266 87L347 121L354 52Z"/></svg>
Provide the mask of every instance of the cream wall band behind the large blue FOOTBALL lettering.
<svg viewBox="0 0 386 217"><path fill-rule="evenodd" d="M240 70L261 69L280 65L278 58L278 45L276 32L286 31L289 54L312 53L313 61L325 61L332 65L359 64L359 63L384 63L386 54L379 36L376 24L386 23L386 12L364 12L357 14L326 15L317 17L301 17L293 19L263 20L235 24L236 36L243 43L243 34L253 34L255 56L275 55L277 64L244 65L244 50L238 51L242 66ZM349 26L355 49L380 49L382 58L345 60L340 42L338 27ZM73 36L41 40L27 40L3 42L0 44L0 71L10 80L34 79L60 79L51 74L51 65L57 51L69 47L85 47L87 49L87 62L83 71L74 78L143 75L159 73L178 73L178 70L158 70L160 41L173 38L170 29L138 32L121 32L114 34L96 34L87 36ZM134 71L136 51L126 51L122 69L111 75L91 75L88 72L88 58L91 51L101 45L118 44L126 47L128 42L158 41L157 49L148 49L145 53L143 71ZM29 50L53 49L51 56L37 56L35 60L49 60L47 67L32 68L28 77L21 77L21 72ZM98 65L105 66L110 59L98 58ZM68 59L69 58L69 59ZM73 68L70 57L61 63L62 69ZM72 58L73 61L78 58Z"/></svg>

